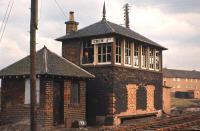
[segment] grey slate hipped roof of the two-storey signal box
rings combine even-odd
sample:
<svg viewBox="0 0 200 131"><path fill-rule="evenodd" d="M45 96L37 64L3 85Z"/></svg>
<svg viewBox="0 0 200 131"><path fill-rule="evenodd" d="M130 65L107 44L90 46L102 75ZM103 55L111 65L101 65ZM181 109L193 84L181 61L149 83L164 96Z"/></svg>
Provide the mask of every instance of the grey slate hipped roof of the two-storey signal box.
<svg viewBox="0 0 200 131"><path fill-rule="evenodd" d="M145 42L147 44L159 47L161 49L166 50L165 47L159 45L158 43L134 32L131 29L125 28L123 26L117 25L115 23L101 20L97 23L94 23L90 26L87 26L83 29L80 29L76 32L68 33L65 36L57 38L56 40L62 41L67 39L74 39L74 38L81 38L81 37L89 37L89 36L98 36L98 35L105 35L105 34L119 34L123 35L141 42Z"/></svg>

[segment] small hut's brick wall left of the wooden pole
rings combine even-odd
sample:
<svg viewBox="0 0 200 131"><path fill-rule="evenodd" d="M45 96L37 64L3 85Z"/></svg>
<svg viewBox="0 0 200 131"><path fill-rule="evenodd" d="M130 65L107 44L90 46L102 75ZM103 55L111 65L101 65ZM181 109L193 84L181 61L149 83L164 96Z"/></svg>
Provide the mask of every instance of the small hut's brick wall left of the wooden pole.
<svg viewBox="0 0 200 131"><path fill-rule="evenodd" d="M24 105L24 79L3 79L0 123L12 123L29 118L30 107Z"/></svg>

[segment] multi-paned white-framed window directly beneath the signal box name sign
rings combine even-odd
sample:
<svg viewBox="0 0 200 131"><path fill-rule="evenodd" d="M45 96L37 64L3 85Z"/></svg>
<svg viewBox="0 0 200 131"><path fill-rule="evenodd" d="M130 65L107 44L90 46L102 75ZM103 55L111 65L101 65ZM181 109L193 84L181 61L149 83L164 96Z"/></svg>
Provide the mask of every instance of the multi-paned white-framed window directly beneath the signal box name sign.
<svg viewBox="0 0 200 131"><path fill-rule="evenodd" d="M98 63L111 62L111 44L98 44Z"/></svg>

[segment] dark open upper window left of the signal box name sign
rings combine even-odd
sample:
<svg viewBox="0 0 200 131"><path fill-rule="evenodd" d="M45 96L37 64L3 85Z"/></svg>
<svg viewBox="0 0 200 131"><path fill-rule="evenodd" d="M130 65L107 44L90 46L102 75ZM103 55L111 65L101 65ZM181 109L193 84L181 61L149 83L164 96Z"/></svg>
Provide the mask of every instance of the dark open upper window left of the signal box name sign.
<svg viewBox="0 0 200 131"><path fill-rule="evenodd" d="M94 62L94 45L91 40L83 41L83 58L82 64L91 64Z"/></svg>

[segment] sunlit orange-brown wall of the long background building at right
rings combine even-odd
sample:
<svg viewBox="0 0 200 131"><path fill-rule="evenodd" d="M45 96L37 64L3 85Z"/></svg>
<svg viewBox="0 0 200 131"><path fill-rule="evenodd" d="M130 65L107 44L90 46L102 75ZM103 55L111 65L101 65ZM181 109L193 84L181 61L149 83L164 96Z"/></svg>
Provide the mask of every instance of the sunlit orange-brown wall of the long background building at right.
<svg viewBox="0 0 200 131"><path fill-rule="evenodd" d="M200 90L200 79L189 78L164 78L166 86L172 87L171 92L176 91L195 91L194 98L200 98L198 91Z"/></svg>

